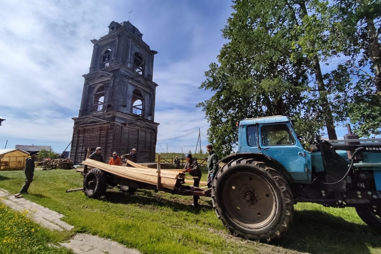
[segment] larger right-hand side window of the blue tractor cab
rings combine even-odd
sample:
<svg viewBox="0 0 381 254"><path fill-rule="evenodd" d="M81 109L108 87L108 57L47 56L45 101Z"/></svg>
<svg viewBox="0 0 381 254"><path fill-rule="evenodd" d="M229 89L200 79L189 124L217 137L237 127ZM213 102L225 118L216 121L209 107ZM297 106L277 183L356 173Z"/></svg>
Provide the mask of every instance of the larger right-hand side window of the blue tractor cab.
<svg viewBox="0 0 381 254"><path fill-rule="evenodd" d="M286 124L264 125L261 127L264 146L294 145L295 139Z"/></svg>

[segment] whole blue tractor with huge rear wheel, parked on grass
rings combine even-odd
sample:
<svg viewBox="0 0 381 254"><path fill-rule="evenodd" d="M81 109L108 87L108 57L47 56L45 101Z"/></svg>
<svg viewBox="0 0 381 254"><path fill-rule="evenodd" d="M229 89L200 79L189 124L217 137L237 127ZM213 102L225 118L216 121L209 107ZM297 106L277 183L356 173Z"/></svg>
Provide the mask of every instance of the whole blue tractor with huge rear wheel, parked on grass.
<svg viewBox="0 0 381 254"><path fill-rule="evenodd" d="M350 129L350 127L349 127ZM223 158L211 196L236 236L271 241L289 227L298 202L355 207L381 230L381 139L316 138L304 149L286 116L239 123L238 152Z"/></svg>

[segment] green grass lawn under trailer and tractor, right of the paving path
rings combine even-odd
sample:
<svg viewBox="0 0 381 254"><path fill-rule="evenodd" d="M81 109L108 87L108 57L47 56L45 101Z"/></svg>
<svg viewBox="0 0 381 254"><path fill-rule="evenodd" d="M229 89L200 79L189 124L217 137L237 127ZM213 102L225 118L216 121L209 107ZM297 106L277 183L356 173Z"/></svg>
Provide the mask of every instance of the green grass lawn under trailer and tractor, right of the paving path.
<svg viewBox="0 0 381 254"><path fill-rule="evenodd" d="M206 178L204 168L202 181ZM211 198L201 197L201 207L195 209L189 206L192 196L148 190L129 195L112 188L101 199L87 198L79 191L65 192L80 188L82 181L82 175L75 170L37 169L30 194L24 198L64 214L63 220L75 226L71 234L110 238L147 254L381 253L380 234L365 225L352 208L299 203L288 231L279 240L262 244L230 235L216 217ZM23 171L0 171L0 188L12 194L18 193L23 182ZM67 232L54 234L51 241L70 238Z"/></svg>

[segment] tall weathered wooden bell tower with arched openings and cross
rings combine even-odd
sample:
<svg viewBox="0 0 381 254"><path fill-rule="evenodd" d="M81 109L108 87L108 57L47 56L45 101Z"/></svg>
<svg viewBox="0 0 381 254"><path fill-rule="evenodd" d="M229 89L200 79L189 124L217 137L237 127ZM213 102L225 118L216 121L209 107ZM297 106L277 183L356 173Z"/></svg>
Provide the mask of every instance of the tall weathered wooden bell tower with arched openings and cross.
<svg viewBox="0 0 381 254"><path fill-rule="evenodd" d="M158 123L154 122L154 55L129 21L112 21L109 32L93 39L90 71L83 75L78 117L73 117L70 158L79 164L86 148L102 148L105 162L138 150L138 162L154 162Z"/></svg>

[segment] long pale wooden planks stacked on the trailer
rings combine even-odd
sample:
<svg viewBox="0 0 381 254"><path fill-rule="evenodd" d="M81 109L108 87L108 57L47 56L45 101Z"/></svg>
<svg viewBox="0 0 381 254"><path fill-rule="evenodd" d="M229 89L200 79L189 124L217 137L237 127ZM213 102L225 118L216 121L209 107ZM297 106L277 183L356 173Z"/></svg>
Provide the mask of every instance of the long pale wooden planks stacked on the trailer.
<svg viewBox="0 0 381 254"><path fill-rule="evenodd" d="M92 159L86 159L86 161L83 161L82 163L129 180L157 185L157 169L150 169L132 161L127 161L127 163L134 167L114 166L99 161L94 161ZM182 181L184 180L185 174L184 170L181 169L161 170L160 177L161 186L173 190L176 187L178 179L181 179Z"/></svg>

